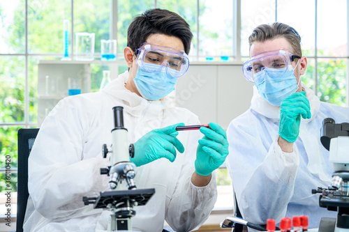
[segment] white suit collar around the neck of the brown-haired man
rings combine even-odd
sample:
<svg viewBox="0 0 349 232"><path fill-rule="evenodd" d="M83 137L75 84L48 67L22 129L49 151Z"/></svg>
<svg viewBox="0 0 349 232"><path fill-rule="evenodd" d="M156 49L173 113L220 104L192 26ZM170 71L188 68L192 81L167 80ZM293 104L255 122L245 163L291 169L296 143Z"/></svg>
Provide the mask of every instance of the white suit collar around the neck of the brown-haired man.
<svg viewBox="0 0 349 232"><path fill-rule="evenodd" d="M309 119L302 118L302 123L309 123L309 121L312 121L315 118L315 116L318 115L318 111L320 109L320 99L315 95L314 91L308 88L303 82L302 82L302 87L306 92L306 98L308 98L309 100L310 110L311 110L311 118ZM250 109L253 109L254 111L258 112L259 114L262 114L267 118L272 118L275 121L280 120L280 106L270 105L258 93L258 89L255 86L253 86L253 96L251 99Z"/></svg>

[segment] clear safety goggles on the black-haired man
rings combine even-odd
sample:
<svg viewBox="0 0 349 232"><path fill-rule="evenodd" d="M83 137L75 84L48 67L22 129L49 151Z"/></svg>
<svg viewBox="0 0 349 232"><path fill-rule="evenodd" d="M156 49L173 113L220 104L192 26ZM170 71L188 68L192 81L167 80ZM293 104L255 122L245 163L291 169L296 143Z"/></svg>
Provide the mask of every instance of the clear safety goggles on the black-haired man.
<svg viewBox="0 0 349 232"><path fill-rule="evenodd" d="M189 59L183 50L143 42L137 53L137 63L147 72L166 71L171 77L183 76L189 67Z"/></svg>

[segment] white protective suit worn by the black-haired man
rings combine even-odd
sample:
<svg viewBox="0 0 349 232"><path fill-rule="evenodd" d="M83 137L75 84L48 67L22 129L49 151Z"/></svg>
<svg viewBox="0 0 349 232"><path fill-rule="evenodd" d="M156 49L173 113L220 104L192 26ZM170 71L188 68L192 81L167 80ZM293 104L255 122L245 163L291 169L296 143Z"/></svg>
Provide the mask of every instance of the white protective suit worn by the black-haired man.
<svg viewBox="0 0 349 232"><path fill-rule="evenodd" d="M112 143L112 107L124 107L128 142L147 132L175 123L200 124L187 109L169 100L147 101L125 88L128 72L119 75L98 93L61 100L45 118L29 157L29 201L24 231L103 231L110 211L84 206L83 196L107 190L108 177L100 168L103 144ZM175 231L200 226L216 202L216 177L205 187L191 183L199 131L179 132L184 153L171 163L162 158L138 167L138 189L155 188L146 206L135 207L133 230L162 231L164 219ZM125 187L125 184L122 184ZM126 189L126 187L125 187ZM97 229L96 229L97 228Z"/></svg>

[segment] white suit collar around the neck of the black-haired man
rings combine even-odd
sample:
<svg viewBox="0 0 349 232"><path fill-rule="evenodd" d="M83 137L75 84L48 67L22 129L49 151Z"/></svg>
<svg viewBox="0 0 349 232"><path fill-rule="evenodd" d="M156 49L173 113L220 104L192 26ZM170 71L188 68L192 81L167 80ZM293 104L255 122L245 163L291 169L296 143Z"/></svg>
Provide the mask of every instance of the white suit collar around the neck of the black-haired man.
<svg viewBox="0 0 349 232"><path fill-rule="evenodd" d="M172 107L170 100L168 98L163 98L163 100L150 101L145 100L136 93L129 91L125 85L128 79L128 71L121 73L119 77L113 79L112 82L107 84L103 88L103 93L111 95L114 98L120 99L124 102L124 111L132 114L133 116L145 116L153 118L158 117L165 108ZM151 110L149 110L151 108ZM146 111L147 114L144 114Z"/></svg>

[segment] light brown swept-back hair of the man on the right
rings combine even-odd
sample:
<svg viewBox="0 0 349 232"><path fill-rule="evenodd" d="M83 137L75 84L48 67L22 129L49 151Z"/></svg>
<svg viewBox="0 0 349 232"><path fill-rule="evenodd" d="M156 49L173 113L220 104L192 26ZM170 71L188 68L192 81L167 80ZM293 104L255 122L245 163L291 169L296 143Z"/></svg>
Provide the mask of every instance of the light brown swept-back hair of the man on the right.
<svg viewBox="0 0 349 232"><path fill-rule="evenodd" d="M248 37L248 42L251 48L251 45L255 41L263 42L279 37L283 37L290 42L293 49L291 52L293 54L302 56L301 36L299 36L299 33L293 27L281 22L274 22L272 25L262 24L257 26L251 33L251 36Z"/></svg>

